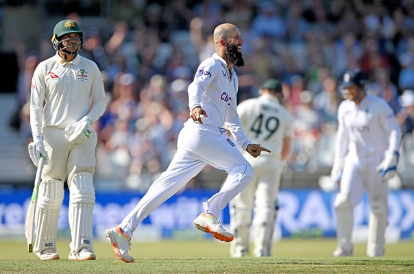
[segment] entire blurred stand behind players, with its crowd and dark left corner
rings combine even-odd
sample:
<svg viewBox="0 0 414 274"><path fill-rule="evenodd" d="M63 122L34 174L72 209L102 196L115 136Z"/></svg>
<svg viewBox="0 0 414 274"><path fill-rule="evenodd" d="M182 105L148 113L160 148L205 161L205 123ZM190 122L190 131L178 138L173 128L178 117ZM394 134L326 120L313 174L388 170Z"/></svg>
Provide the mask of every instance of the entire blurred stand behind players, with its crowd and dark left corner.
<svg viewBox="0 0 414 274"><path fill-rule="evenodd" d="M410 108L401 95L414 90L413 0L0 0L0 188L32 188L29 86L38 62L55 54L50 39L62 18L80 23L81 54L97 62L106 84L108 108L95 125L97 190L144 192L167 168L188 119L186 88L214 52L219 23L234 23L245 40L239 102L256 97L265 79L282 79L295 118L282 188L326 182L346 69L365 69L371 91L395 114ZM414 186L410 113L401 119L393 188ZM219 188L225 177L207 166L188 188Z"/></svg>

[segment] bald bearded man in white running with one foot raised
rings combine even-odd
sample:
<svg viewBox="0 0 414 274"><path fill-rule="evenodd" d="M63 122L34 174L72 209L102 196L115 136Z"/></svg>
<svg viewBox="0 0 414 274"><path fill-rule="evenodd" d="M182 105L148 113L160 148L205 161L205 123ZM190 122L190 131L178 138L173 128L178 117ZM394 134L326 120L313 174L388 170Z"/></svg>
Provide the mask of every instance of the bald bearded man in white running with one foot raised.
<svg viewBox="0 0 414 274"><path fill-rule="evenodd" d="M219 216L229 201L249 184L254 170L234 142L227 138L225 125L237 145L253 157L260 155L261 151L270 152L249 141L236 112L239 83L232 64L244 64L241 33L235 25L224 23L215 28L213 38L216 52L199 65L193 82L188 86L191 118L184 123L178 136L177 152L167 171L156 179L120 225L106 230L115 255L124 262L134 262L128 251L136 227L207 164L225 170L228 177L221 190L203 203L204 212L193 224L218 240L233 240L233 234L223 229Z"/></svg>

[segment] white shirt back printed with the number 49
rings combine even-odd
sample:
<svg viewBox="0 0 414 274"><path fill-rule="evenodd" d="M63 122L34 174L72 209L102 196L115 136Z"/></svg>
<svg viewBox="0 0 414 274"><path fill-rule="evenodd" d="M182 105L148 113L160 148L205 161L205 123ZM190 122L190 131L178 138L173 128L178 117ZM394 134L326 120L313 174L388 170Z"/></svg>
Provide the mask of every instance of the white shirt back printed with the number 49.
<svg viewBox="0 0 414 274"><path fill-rule="evenodd" d="M293 118L272 95L242 101L237 107L250 141L267 147L269 156L280 158L284 137L293 137Z"/></svg>

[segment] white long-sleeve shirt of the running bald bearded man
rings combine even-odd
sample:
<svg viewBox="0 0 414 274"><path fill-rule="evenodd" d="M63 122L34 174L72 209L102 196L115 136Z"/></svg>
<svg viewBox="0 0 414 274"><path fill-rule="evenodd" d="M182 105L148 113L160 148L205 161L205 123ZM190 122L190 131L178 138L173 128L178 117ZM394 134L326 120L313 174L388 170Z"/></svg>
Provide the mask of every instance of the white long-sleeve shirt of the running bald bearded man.
<svg viewBox="0 0 414 274"><path fill-rule="evenodd" d="M230 68L230 71L232 77L226 61L217 53L199 64L194 80L188 86L188 107L191 111L199 106L207 112L208 117L202 117L203 125L226 125L237 144L246 149L252 142L241 127L236 101L239 80L234 69Z"/></svg>

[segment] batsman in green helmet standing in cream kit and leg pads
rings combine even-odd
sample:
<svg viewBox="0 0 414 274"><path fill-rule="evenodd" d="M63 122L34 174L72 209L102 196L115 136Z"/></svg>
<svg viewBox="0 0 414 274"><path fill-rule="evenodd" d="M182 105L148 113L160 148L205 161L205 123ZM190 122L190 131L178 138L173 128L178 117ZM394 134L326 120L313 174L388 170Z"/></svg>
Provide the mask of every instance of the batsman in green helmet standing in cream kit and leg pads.
<svg viewBox="0 0 414 274"><path fill-rule="evenodd" d="M29 155L38 166L45 157L35 214L34 252L40 260L57 260L58 216L66 176L69 195L69 260L93 260L95 147L92 123L106 108L101 73L79 55L83 32L75 21L56 24L51 38L56 55L40 62L32 79L30 125L34 142Z"/></svg>

